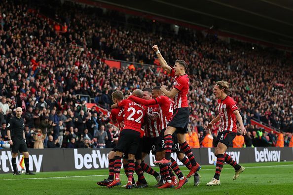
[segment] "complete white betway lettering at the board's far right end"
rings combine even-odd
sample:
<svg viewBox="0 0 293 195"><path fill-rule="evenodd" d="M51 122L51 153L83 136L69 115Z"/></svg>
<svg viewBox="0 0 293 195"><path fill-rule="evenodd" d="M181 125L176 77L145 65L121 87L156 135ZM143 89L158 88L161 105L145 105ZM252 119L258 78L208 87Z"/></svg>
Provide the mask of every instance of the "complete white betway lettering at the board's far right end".
<svg viewBox="0 0 293 195"><path fill-rule="evenodd" d="M264 148L261 151L257 151L255 148L256 162L280 162L281 151L272 150L268 151L267 148Z"/></svg>

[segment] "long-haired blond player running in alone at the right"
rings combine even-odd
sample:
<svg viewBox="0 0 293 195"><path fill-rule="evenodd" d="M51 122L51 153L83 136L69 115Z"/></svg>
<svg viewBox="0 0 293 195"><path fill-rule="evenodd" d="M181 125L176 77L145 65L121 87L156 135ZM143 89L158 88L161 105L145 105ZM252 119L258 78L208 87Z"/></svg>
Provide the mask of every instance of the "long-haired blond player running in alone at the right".
<svg viewBox="0 0 293 195"><path fill-rule="evenodd" d="M246 129L242 122L242 117L239 113L238 107L233 98L228 96L230 94L229 83L226 81L218 81L214 87L214 95L218 98L218 116L213 119L204 129L210 130L213 124L220 121L220 130L215 140L217 146L215 155L217 157L216 173L214 178L207 183L207 186L220 185L220 173L223 168L224 162L230 164L235 168L235 175L233 179L237 179L239 174L244 171L244 167L237 164L230 155L226 154L226 150L232 143L236 136L238 121L240 132L245 135ZM236 121L237 120L237 121Z"/></svg>

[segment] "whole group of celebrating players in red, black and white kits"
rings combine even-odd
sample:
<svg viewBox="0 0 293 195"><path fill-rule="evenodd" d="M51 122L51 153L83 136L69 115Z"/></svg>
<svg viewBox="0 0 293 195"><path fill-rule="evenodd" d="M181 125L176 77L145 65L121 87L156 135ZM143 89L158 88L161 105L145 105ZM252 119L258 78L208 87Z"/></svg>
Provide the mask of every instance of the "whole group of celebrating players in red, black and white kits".
<svg viewBox="0 0 293 195"><path fill-rule="evenodd" d="M183 60L177 60L171 68L162 57L157 45L152 48L157 54L161 67L175 78L173 89L168 91L166 86L136 89L129 97L124 97L121 91L112 93L114 102L111 106L112 122L118 125L120 134L116 147L108 155L109 177L98 182L100 186L112 188L121 185L122 163L128 178L126 189L148 187L144 172L154 176L158 182L155 187L158 188L180 189L191 176L194 177L194 186L200 183L198 171L201 166L196 162L185 140L189 122L187 99L189 78L185 73L188 65ZM235 168L233 179L237 179L244 171L243 166L225 153L236 136L237 121L241 133L246 134L238 108L228 94L229 84L225 81L217 82L214 95L219 98L219 115L205 127L205 130L210 130L213 124L220 120L220 132L215 142L216 172L211 182L207 183L209 186L220 185L220 172L224 162ZM155 155L154 164L159 165L160 173L144 162L150 151ZM172 152L177 153L178 159L189 169L190 172L186 177L171 157ZM134 180L134 172L138 175L137 182Z"/></svg>

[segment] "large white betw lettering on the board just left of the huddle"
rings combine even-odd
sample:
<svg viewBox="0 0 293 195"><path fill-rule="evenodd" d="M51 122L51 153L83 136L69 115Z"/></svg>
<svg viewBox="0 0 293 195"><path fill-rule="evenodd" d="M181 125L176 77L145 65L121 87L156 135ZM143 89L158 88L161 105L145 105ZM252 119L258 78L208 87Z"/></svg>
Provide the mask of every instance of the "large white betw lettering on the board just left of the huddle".
<svg viewBox="0 0 293 195"><path fill-rule="evenodd" d="M92 154L85 154L82 156L78 154L77 149L74 149L74 166L76 169L82 169L83 167L87 169L99 167L108 168L108 154L101 155L100 150L92 150Z"/></svg>

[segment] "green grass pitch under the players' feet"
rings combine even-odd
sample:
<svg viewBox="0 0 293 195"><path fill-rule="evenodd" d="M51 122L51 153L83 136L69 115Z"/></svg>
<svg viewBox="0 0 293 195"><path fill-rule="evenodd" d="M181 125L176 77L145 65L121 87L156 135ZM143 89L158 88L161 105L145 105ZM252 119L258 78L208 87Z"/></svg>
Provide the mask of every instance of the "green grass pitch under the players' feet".
<svg viewBox="0 0 293 195"><path fill-rule="evenodd" d="M145 189L126 190L120 186L112 189L100 187L96 184L107 178L108 169L85 170L85 171L63 171L63 172L42 172L36 175L0 174L0 194L2 195L246 195L246 194L293 194L293 162L267 162L242 164L245 171L237 180L232 180L234 169L225 164L220 175L220 186L206 186L206 183L214 176L213 165L204 165L199 171L201 183L193 186L193 178L183 186L181 190L156 189L152 186L156 184L153 176L145 174L150 187ZM155 167L158 170L158 167ZM181 167L183 173L188 173L185 167ZM123 170L121 170L123 173ZM101 176L98 176L101 175ZM67 178L66 178L67 176ZM77 176L77 177L73 177ZM85 177L80 177L85 176ZM62 177L62 178L48 178ZM135 175L136 179L137 176ZM43 178L29 179L28 178ZM44 179L45 178L45 179ZM25 180L24 180L25 179ZM126 183L126 176L121 175L122 185Z"/></svg>

